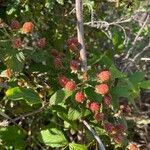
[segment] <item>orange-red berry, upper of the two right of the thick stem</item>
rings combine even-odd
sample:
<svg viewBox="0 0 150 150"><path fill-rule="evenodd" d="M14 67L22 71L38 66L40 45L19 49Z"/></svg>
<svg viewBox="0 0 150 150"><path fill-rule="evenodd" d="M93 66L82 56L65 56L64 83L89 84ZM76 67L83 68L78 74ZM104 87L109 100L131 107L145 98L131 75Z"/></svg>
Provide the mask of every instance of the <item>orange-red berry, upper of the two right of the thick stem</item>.
<svg viewBox="0 0 150 150"><path fill-rule="evenodd" d="M109 71L102 71L97 76L101 82L104 82L104 81L108 81L110 79L111 73Z"/></svg>

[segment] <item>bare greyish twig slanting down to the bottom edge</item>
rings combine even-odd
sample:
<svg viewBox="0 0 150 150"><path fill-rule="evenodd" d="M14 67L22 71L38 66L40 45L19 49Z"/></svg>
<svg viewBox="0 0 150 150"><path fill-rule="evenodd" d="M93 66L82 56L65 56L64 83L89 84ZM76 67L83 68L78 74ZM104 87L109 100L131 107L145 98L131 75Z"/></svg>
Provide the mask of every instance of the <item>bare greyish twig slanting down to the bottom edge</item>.
<svg viewBox="0 0 150 150"><path fill-rule="evenodd" d="M87 129L93 134L94 138L97 140L97 143L99 144L99 150L105 150L104 144L102 143L100 137L95 133L91 126L85 120L83 120L83 124L87 127Z"/></svg>

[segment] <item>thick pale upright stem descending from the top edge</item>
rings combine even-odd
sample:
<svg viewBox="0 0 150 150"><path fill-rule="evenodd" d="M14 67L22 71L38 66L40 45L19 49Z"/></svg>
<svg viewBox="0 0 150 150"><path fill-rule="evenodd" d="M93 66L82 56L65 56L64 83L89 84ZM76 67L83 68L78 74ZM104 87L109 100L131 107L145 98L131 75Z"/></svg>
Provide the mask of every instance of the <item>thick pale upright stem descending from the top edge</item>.
<svg viewBox="0 0 150 150"><path fill-rule="evenodd" d="M81 44L80 59L81 59L81 70L87 72L87 55L84 42L84 27L83 27L83 0L76 0L76 18L77 18L77 35L78 42Z"/></svg>

